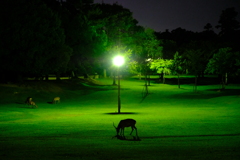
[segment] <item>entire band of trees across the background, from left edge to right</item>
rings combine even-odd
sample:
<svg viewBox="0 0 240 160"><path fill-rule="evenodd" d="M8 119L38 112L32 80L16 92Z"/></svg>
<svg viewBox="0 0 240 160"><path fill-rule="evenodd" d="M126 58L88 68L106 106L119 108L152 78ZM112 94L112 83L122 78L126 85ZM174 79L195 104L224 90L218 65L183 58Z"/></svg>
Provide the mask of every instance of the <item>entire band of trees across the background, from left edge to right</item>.
<svg viewBox="0 0 240 160"><path fill-rule="evenodd" d="M200 33L182 28L156 33L139 26L129 9L118 4L94 4L93 0L8 0L1 2L0 10L2 82L24 81L26 77L47 80L50 74L58 79L61 75L102 75L106 73L103 70L109 75L117 54L125 57L128 73L162 72L158 69L166 69L166 65L154 68L150 64L175 59L172 64L181 64L184 71L199 75L221 48L234 55L240 51L234 8L220 15L219 34L211 24ZM234 60L228 73L236 75L239 56ZM192 70L194 63L201 64L201 69Z"/></svg>

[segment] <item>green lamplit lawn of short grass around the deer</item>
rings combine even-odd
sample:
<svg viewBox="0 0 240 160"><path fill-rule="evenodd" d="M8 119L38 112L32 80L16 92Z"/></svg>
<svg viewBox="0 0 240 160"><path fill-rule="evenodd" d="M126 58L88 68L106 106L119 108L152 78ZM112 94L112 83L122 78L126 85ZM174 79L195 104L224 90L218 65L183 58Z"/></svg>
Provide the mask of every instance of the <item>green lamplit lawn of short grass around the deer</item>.
<svg viewBox="0 0 240 160"><path fill-rule="evenodd" d="M194 93L191 85L152 84L143 99L143 81L121 80L123 114L115 114L117 88L100 81L107 85L84 92L28 92L37 109L22 103L23 89L12 102L2 100L1 159L239 159L240 86ZM54 96L60 104L49 103ZM139 140L130 128L126 140L112 138L113 122L126 118L137 121Z"/></svg>

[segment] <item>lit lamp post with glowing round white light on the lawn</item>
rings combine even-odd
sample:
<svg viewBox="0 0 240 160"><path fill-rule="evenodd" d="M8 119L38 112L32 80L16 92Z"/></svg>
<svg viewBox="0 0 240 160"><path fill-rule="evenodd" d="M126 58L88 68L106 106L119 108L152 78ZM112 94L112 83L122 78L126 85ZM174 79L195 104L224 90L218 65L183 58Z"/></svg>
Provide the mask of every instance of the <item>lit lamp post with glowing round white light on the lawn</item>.
<svg viewBox="0 0 240 160"><path fill-rule="evenodd" d="M120 76L119 76L119 67L124 63L124 58L122 56L116 56L113 59L113 64L117 66L117 75L118 75L118 113L121 112L121 99L120 99Z"/></svg>

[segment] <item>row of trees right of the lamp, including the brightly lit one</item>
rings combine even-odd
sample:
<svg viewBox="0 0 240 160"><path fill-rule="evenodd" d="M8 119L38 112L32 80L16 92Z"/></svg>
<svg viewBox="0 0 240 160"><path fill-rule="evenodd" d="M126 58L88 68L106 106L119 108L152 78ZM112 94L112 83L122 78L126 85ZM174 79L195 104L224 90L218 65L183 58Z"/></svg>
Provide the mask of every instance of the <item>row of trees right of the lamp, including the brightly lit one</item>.
<svg viewBox="0 0 240 160"><path fill-rule="evenodd" d="M163 46L163 57L154 59L150 68L160 74L190 73L197 78L217 74L222 88L229 77L240 82L240 23L235 8L222 11L218 25L207 23L202 32L177 28L156 33ZM218 29L219 33L214 30ZM164 82L164 76L162 76Z"/></svg>

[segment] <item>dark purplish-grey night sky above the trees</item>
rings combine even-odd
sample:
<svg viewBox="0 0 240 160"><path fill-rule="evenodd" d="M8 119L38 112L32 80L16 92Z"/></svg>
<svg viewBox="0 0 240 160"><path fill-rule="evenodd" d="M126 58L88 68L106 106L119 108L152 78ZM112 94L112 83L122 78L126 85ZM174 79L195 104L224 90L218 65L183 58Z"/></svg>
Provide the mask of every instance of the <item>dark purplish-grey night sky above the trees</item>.
<svg viewBox="0 0 240 160"><path fill-rule="evenodd" d="M139 25L155 31L181 27L201 32L207 23L218 24L222 10L235 7L240 21L240 0L94 0L95 3L118 3L133 12ZM218 32L217 29L214 29Z"/></svg>

